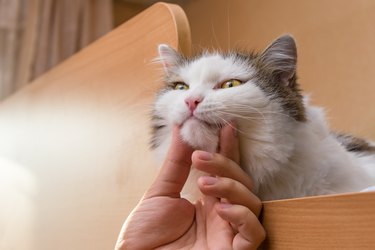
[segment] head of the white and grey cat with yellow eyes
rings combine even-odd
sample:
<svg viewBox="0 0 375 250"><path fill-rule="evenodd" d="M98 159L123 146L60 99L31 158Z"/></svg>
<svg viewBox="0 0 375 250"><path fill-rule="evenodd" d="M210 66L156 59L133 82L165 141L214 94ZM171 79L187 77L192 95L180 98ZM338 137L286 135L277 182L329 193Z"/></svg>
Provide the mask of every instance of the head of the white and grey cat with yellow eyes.
<svg viewBox="0 0 375 250"><path fill-rule="evenodd" d="M259 122L270 104L295 106L299 93L293 48L293 39L282 37L260 55L206 53L186 59L161 45L166 87L155 103L154 146L162 139L158 137L179 125L185 141L213 151L223 125Z"/></svg>

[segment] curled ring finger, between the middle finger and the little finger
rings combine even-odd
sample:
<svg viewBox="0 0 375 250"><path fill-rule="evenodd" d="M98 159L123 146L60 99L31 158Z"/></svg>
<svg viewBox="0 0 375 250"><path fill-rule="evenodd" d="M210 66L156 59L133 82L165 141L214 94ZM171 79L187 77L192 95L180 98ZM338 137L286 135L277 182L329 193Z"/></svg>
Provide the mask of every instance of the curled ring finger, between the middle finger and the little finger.
<svg viewBox="0 0 375 250"><path fill-rule="evenodd" d="M245 185L225 177L202 176L198 179L201 192L207 196L221 198L227 203L247 207L257 217L262 210L262 203Z"/></svg>

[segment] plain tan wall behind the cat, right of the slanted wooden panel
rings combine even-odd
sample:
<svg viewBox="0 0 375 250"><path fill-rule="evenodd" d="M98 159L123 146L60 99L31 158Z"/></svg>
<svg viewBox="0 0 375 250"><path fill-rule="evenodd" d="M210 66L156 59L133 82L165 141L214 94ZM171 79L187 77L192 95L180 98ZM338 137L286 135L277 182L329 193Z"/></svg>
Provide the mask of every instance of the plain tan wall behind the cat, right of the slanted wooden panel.
<svg viewBox="0 0 375 250"><path fill-rule="evenodd" d="M298 72L335 130L375 139L375 1L191 0L182 3L195 49L262 49L283 33Z"/></svg>

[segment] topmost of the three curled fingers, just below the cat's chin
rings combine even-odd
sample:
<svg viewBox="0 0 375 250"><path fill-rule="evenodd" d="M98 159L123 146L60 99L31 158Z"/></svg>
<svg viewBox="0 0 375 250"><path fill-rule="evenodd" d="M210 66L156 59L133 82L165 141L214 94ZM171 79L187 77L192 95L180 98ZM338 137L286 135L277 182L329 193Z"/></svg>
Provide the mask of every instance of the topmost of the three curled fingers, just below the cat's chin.
<svg viewBox="0 0 375 250"><path fill-rule="evenodd" d="M239 181L249 190L253 188L251 178L234 161L220 155L205 151L194 151L193 167L214 176L227 177Z"/></svg>

